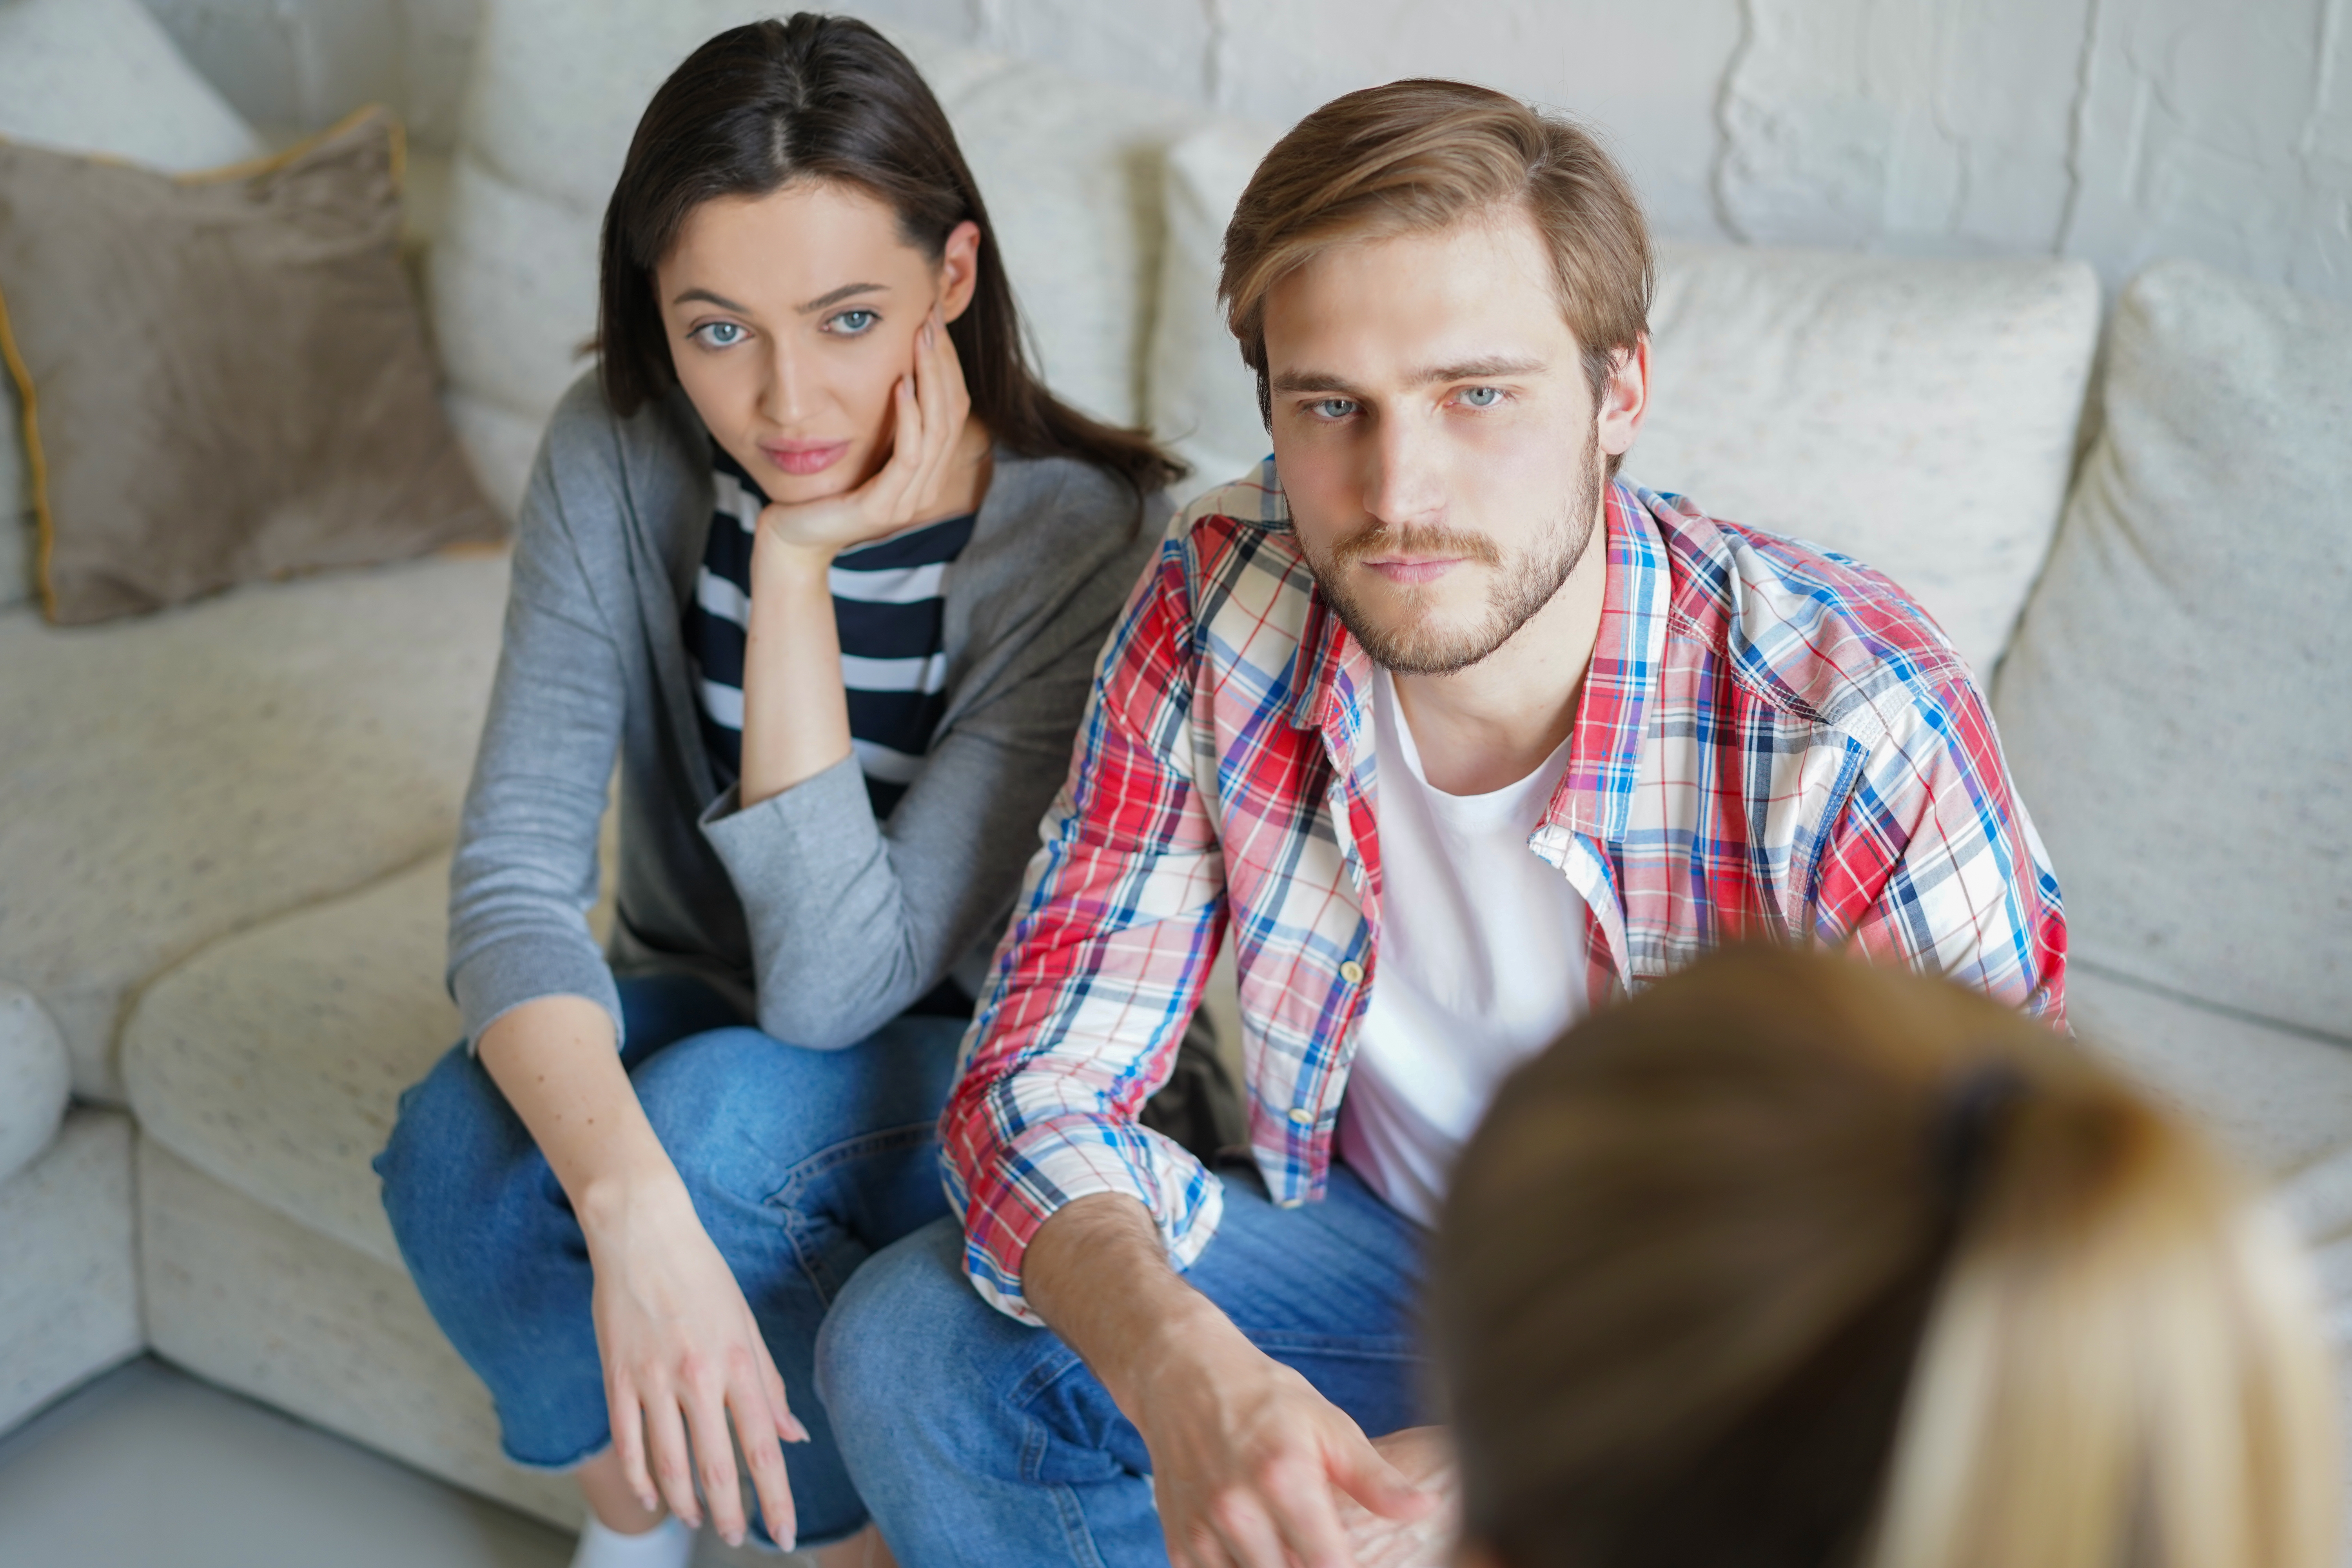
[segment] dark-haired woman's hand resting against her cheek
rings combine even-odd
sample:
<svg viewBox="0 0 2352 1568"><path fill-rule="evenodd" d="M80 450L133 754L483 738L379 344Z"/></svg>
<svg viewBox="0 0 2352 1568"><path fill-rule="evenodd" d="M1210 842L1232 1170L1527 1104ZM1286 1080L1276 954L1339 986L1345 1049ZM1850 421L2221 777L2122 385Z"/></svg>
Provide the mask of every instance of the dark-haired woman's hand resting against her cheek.
<svg viewBox="0 0 2352 1568"><path fill-rule="evenodd" d="M851 545L938 517L955 494L957 451L971 418L964 364L934 306L915 331L915 362L891 388L891 454L866 484L760 512L760 548L811 552L830 562Z"/></svg>

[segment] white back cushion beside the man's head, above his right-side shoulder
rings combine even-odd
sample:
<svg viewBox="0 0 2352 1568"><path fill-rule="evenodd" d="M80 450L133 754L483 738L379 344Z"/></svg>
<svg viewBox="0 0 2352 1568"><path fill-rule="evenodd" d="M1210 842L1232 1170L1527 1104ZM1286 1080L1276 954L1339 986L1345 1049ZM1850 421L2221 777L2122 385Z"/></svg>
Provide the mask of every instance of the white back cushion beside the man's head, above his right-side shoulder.
<svg viewBox="0 0 2352 1568"><path fill-rule="evenodd" d="M2079 261L1663 244L1625 477L1903 583L1990 682L2065 503Z"/></svg>

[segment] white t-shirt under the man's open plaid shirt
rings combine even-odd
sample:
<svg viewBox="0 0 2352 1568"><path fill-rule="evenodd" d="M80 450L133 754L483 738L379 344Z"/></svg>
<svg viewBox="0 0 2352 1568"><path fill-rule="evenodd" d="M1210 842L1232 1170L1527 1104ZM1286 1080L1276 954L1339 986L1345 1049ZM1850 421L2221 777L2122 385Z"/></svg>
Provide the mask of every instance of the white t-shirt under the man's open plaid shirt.
<svg viewBox="0 0 2352 1568"><path fill-rule="evenodd" d="M1526 846L1569 745L1515 785L1446 795L1421 771L1388 670L1374 731L1381 950L1338 1152L1390 1208L1435 1225L1496 1086L1583 1013L1583 898Z"/></svg>

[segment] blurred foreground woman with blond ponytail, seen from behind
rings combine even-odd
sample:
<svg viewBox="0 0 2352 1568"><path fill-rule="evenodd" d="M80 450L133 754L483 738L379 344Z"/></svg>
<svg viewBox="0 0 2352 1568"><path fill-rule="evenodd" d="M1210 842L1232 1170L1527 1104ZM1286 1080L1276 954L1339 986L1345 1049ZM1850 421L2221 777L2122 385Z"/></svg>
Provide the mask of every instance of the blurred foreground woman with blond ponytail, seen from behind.
<svg viewBox="0 0 2352 1568"><path fill-rule="evenodd" d="M2284 1227L2034 1023L1726 952L1496 1095L1435 1269L1465 1566L2331 1568Z"/></svg>

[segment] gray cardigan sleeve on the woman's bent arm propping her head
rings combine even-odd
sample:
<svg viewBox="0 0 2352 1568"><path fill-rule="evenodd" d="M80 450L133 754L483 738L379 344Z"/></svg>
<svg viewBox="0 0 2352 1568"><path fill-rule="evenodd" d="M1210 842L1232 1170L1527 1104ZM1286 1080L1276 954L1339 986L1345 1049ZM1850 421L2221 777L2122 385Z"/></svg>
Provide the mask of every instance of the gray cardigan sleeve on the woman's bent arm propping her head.
<svg viewBox="0 0 2352 1568"><path fill-rule="evenodd" d="M1152 548L1124 494L1096 515L1087 571L1042 625L1018 628L1021 675L950 715L887 825L856 759L703 816L743 898L760 1027L814 1048L873 1034L1011 912L1037 823L1070 769L1094 663Z"/></svg>

